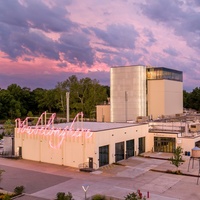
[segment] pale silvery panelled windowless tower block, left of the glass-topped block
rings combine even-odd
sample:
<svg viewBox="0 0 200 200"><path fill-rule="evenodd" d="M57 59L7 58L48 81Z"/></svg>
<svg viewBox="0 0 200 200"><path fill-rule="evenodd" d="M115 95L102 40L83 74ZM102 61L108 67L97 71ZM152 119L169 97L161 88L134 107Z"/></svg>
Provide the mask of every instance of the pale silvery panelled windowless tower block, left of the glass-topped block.
<svg viewBox="0 0 200 200"><path fill-rule="evenodd" d="M146 67L123 66L110 70L111 122L146 116Z"/></svg>

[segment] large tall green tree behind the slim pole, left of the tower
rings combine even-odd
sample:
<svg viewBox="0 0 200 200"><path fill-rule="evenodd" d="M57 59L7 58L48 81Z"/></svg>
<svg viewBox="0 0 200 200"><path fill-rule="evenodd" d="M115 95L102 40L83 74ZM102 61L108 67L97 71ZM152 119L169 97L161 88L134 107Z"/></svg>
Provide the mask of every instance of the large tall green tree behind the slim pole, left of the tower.
<svg viewBox="0 0 200 200"><path fill-rule="evenodd" d="M57 83L57 101L63 112L66 111L66 92L70 92L70 115L75 117L78 112L83 112L84 117L94 118L96 105L107 100L108 88L101 86L99 82L88 77L78 80L75 75L70 76L64 82ZM58 106L58 107L59 107Z"/></svg>

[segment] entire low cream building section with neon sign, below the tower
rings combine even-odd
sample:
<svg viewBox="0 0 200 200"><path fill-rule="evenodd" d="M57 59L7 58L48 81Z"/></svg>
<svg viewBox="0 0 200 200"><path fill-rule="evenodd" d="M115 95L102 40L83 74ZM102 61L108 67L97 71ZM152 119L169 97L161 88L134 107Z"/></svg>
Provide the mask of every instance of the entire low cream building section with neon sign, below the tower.
<svg viewBox="0 0 200 200"><path fill-rule="evenodd" d="M17 121L15 155L38 162L98 169L145 152L172 153L181 146L190 153L195 146L200 147L200 116L195 122L169 118L148 123L83 122L76 117L72 123L62 124L54 124L55 115L49 119L44 116L36 125L28 123L30 118ZM44 119L48 121L40 123Z"/></svg>

